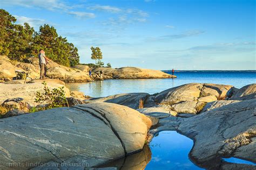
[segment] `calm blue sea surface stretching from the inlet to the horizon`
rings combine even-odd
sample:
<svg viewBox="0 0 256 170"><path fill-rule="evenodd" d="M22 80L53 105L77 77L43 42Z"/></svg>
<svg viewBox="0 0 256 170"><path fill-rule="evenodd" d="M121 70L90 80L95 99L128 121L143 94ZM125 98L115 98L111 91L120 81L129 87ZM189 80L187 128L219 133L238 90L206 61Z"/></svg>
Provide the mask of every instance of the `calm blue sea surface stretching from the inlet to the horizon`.
<svg viewBox="0 0 256 170"><path fill-rule="evenodd" d="M171 72L166 71L171 74ZM104 97L121 93L144 92L149 94L187 83L230 84L241 88L256 83L255 71L186 71L175 72L176 79L104 80L85 83L66 83L70 90L83 91L91 97Z"/></svg>

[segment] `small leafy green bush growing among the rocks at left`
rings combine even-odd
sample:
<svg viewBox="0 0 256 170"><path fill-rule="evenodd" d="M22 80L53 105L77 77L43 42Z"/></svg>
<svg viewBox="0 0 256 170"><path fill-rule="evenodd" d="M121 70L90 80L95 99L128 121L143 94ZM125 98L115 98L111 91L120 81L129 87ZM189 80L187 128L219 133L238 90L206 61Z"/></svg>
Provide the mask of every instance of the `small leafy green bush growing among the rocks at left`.
<svg viewBox="0 0 256 170"><path fill-rule="evenodd" d="M42 84L44 84L44 91L43 93L41 93L41 91L36 92L35 102L45 106L42 108L37 108L37 111L68 106L64 87L53 88L51 90L47 87L45 81ZM35 108L32 109L31 112L35 112Z"/></svg>

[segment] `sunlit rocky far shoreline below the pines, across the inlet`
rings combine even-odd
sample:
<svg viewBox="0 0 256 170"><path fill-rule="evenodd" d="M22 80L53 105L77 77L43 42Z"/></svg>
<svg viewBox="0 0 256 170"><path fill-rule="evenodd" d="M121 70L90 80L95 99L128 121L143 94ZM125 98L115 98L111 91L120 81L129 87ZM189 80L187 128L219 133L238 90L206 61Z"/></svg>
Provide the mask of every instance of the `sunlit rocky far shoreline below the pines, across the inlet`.
<svg viewBox="0 0 256 170"><path fill-rule="evenodd" d="M31 79L39 79L38 58L28 58L32 63L11 61L8 56L0 55L0 82L10 81L16 76L15 71L28 73ZM92 76L89 76L89 70L92 70ZM103 77L99 76L99 70L103 70ZM77 65L73 68L65 67L56 62L49 61L47 76L50 79L61 80L64 82L90 82L104 79L170 79L176 78L174 75L166 74L160 70L142 69L136 67L124 68L90 68L84 65Z"/></svg>

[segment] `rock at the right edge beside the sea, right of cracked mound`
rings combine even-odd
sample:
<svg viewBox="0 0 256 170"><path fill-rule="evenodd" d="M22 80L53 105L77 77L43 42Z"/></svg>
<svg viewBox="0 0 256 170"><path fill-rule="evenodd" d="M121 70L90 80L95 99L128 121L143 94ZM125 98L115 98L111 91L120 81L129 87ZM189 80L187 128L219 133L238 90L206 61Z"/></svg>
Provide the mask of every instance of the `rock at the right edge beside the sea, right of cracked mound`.
<svg viewBox="0 0 256 170"><path fill-rule="evenodd" d="M228 100L250 100L256 98L256 83L248 84L241 89L235 91L235 93L228 98Z"/></svg>

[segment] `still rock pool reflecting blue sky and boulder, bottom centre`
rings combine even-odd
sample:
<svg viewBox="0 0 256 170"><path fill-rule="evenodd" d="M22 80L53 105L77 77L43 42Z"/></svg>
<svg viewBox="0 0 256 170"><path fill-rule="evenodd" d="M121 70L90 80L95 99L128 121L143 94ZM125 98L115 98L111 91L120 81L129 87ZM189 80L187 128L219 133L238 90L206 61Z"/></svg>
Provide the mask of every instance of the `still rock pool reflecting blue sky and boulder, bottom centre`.
<svg viewBox="0 0 256 170"><path fill-rule="evenodd" d="M176 131L162 131L142 152L104 165L117 169L201 169L188 158L193 141ZM152 153L152 155L151 155Z"/></svg>

